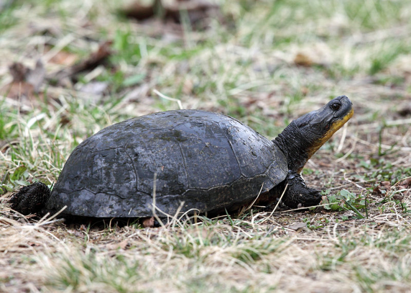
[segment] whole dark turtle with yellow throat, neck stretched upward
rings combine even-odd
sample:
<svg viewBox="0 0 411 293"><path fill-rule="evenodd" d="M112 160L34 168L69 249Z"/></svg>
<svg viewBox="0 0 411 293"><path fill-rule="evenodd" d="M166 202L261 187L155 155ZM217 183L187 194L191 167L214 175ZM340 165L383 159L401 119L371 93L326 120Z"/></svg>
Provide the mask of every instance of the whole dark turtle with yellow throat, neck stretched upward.
<svg viewBox="0 0 411 293"><path fill-rule="evenodd" d="M108 126L69 155L52 191L23 187L10 207L91 218L147 218L234 212L255 203L319 204L300 172L353 115L347 96L293 120L269 140L238 120L204 110L171 110ZM283 193L284 192L284 193Z"/></svg>

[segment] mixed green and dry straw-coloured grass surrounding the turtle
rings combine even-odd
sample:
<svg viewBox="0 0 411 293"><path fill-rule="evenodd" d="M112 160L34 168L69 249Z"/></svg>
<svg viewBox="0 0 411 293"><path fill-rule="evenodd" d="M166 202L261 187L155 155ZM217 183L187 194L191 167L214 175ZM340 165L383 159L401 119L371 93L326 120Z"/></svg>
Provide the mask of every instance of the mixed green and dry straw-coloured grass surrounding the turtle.
<svg viewBox="0 0 411 293"><path fill-rule="evenodd" d="M49 77L39 95L0 97L0 291L407 291L411 285L409 35L405 0L221 1L196 30L119 15L124 1L14 1L0 13L8 66ZM59 84L59 58L107 63ZM296 56L306 66L296 65ZM65 60L66 58L67 60ZM99 82L103 91L87 93ZM105 126L185 108L234 116L267 137L346 94L355 114L304 172L322 207L253 208L160 228L28 220L6 198L51 185L71 150ZM43 96L46 99L44 102ZM270 216L271 214L271 216Z"/></svg>

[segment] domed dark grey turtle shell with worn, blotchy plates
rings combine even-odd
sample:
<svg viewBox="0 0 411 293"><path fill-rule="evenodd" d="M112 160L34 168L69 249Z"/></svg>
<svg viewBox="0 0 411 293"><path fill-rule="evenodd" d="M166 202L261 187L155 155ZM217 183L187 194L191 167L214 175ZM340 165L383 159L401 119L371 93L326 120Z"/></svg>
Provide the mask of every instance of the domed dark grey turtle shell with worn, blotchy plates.
<svg viewBox="0 0 411 293"><path fill-rule="evenodd" d="M252 200L287 171L287 159L272 141L229 116L158 112L108 126L77 146L46 209L151 217L155 202L171 215L179 208L206 212Z"/></svg>

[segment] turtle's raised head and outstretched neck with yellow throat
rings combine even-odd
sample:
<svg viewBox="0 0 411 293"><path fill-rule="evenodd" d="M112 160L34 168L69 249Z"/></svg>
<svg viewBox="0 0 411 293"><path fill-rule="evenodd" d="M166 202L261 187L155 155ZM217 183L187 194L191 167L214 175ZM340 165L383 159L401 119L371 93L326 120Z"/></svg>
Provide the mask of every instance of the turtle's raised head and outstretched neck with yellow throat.
<svg viewBox="0 0 411 293"><path fill-rule="evenodd" d="M353 115L352 103L340 95L322 108L293 120L275 139L287 155L288 168L300 172L311 156Z"/></svg>

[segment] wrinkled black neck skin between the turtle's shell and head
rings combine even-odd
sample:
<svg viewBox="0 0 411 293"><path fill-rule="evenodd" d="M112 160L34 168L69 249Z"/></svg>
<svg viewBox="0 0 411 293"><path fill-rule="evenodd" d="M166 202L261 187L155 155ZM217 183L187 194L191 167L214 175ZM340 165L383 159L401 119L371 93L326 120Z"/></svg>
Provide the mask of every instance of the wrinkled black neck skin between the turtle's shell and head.
<svg viewBox="0 0 411 293"><path fill-rule="evenodd" d="M303 133L292 121L272 142L286 155L288 169L300 173L310 159L307 150L316 140L314 136L313 133Z"/></svg>

